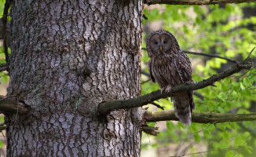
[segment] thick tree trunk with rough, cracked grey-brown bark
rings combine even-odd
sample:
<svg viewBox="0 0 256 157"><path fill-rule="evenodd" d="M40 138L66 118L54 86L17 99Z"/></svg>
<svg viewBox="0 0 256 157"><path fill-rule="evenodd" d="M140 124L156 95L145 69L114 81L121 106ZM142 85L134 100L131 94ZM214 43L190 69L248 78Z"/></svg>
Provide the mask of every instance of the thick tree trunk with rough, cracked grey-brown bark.
<svg viewBox="0 0 256 157"><path fill-rule="evenodd" d="M19 1L11 5L8 156L139 156L140 108L97 115L101 102L141 93L142 0Z"/></svg>

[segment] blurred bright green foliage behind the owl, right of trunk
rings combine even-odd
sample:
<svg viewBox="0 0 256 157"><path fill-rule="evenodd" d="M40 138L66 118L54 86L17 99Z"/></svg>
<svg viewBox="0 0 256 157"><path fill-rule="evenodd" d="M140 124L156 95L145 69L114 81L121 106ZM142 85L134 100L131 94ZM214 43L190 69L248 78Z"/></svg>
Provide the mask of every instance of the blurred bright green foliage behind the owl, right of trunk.
<svg viewBox="0 0 256 157"><path fill-rule="evenodd" d="M238 62L256 46L256 3L221 5L146 5L144 7L144 41L155 30L170 31L181 49L209 53ZM148 18L148 19L147 19ZM195 82L207 79L234 65L227 60L188 54ZM256 57L256 52L252 54ZM148 53L142 50L142 71L148 73ZM254 62L255 63L255 62ZM196 111L199 113L250 113L256 111L256 71L241 71L215 86L196 90ZM141 75L142 94L159 89ZM202 99L203 98L203 99ZM174 109L170 99L156 102L165 109ZM150 106L149 110L157 110ZM219 124L156 122L159 135L143 134L142 156L256 156L255 122ZM155 150L155 151L152 151Z"/></svg>

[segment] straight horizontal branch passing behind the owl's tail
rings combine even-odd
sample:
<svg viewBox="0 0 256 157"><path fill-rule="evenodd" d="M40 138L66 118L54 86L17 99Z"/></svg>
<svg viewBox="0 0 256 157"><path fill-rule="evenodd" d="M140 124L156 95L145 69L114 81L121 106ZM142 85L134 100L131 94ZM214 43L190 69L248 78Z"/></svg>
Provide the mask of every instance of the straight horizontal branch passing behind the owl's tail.
<svg viewBox="0 0 256 157"><path fill-rule="evenodd" d="M178 121L174 111L147 111L144 113L146 122L158 122L166 120ZM192 122L198 123L219 123L219 122L241 122L256 120L256 113L233 114L233 113L192 113Z"/></svg>

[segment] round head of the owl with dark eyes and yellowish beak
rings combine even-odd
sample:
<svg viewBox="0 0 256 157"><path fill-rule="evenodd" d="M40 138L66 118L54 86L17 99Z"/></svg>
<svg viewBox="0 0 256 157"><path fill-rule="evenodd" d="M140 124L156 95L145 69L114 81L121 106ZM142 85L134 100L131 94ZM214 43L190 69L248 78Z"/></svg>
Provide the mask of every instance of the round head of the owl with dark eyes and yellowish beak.
<svg viewBox="0 0 256 157"><path fill-rule="evenodd" d="M148 56L161 55L163 53L177 53L180 47L177 40L169 31L153 31L147 40Z"/></svg>

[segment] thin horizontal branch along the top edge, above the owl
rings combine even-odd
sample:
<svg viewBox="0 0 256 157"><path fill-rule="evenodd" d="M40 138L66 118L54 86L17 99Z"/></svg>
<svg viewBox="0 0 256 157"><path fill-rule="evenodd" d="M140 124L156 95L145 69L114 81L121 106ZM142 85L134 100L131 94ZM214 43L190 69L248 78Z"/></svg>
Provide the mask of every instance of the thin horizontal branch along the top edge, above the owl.
<svg viewBox="0 0 256 157"><path fill-rule="evenodd" d="M214 5L221 3L242 3L255 2L255 0L145 0L147 5L166 4L166 5Z"/></svg>

